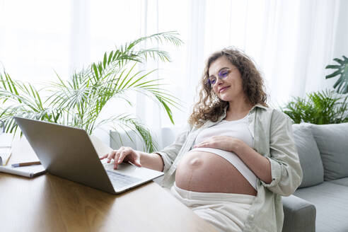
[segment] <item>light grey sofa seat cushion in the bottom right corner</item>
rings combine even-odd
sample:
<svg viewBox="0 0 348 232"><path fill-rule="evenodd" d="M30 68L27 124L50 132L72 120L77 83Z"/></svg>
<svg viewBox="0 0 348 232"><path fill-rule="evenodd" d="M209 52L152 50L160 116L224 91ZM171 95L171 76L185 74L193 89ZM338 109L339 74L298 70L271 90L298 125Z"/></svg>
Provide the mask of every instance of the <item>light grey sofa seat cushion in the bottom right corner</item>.
<svg viewBox="0 0 348 232"><path fill-rule="evenodd" d="M315 205L315 231L347 231L348 187L325 181L320 185L298 189L294 195Z"/></svg>

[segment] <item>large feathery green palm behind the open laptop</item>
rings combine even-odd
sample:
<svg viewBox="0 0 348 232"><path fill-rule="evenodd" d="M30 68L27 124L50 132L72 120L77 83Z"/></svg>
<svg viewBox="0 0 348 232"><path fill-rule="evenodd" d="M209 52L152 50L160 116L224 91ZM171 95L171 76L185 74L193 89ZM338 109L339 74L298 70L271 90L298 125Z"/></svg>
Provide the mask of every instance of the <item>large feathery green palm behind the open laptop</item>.
<svg viewBox="0 0 348 232"><path fill-rule="evenodd" d="M133 105L125 95L128 91L143 93L156 101L173 122L169 106L178 107L179 101L161 87L161 80L149 79L149 74L156 70L147 73L134 71L137 64L149 58L169 61L168 53L157 47L137 50L137 45L145 40L159 44L170 42L177 46L182 44L175 32L140 37L105 52L102 62L74 73L69 80L65 81L57 75L57 81L39 90L31 83L11 79L4 71L0 74L0 120L4 120L6 132L16 132L14 115L79 127L88 134L92 134L101 124L113 122L126 132L129 129L136 132L144 140L146 150L153 151L156 143L149 129L132 115L115 111L119 114L97 123L101 110L111 98L123 99ZM48 98L44 98L47 95Z"/></svg>

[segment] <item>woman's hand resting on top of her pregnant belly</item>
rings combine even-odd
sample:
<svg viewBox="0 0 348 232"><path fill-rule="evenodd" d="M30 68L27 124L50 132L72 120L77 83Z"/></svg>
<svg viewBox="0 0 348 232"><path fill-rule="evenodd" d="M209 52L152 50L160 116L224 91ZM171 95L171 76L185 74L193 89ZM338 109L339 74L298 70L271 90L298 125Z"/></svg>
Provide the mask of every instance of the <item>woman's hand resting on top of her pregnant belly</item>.
<svg viewBox="0 0 348 232"><path fill-rule="evenodd" d="M220 149L220 150L231 151L236 153L236 151L238 150L238 147L240 146L248 146L248 145L245 144L242 140L237 139L235 137L213 136L207 140L202 141L199 144L196 144L194 148L208 147L211 149Z"/></svg>

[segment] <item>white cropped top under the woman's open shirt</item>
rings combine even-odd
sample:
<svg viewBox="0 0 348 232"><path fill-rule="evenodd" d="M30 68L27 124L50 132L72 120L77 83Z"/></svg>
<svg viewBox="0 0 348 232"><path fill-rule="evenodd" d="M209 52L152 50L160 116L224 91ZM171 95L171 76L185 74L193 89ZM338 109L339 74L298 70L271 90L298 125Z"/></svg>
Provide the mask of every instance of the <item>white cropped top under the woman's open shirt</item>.
<svg viewBox="0 0 348 232"><path fill-rule="evenodd" d="M199 144L212 136L236 137L237 139L244 141L245 144L248 144L248 146L250 147L253 147L254 145L254 139L249 130L248 115L240 120L223 120L218 124L215 124L213 127L203 129L202 132L197 135L194 145ZM252 170L250 170L250 168L248 168L248 166L245 165L245 163L243 163L243 161L235 153L231 151L212 148L196 148L192 149L191 151L207 151L225 158L228 162L230 162L237 168L237 170L245 177L246 180L248 180L248 182L250 182L250 185L253 186L256 190L256 175L252 172Z"/></svg>

